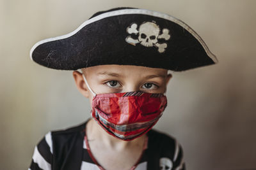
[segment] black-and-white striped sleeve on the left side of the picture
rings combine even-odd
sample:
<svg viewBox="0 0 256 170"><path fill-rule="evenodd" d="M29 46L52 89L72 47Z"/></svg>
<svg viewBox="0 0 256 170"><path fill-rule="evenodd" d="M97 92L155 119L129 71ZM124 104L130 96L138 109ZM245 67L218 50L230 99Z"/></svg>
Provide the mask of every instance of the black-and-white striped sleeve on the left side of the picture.
<svg viewBox="0 0 256 170"><path fill-rule="evenodd" d="M51 132L36 145L29 170L51 170L52 136Z"/></svg>

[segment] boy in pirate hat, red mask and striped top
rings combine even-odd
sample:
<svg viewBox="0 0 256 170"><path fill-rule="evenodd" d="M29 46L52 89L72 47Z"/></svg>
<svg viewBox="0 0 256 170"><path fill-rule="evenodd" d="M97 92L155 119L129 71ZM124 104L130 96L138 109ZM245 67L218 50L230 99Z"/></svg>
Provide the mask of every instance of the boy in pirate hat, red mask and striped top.
<svg viewBox="0 0 256 170"><path fill-rule="evenodd" d="M76 31L36 43L31 59L74 70L92 119L46 134L30 169L185 169L181 146L152 127L167 105L168 70L216 63L188 25L156 11L100 11Z"/></svg>

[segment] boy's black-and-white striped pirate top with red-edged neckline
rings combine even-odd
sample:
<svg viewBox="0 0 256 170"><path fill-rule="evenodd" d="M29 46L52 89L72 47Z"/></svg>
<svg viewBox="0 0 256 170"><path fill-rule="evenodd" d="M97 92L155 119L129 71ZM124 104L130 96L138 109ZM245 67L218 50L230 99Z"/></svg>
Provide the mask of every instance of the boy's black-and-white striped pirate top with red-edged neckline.
<svg viewBox="0 0 256 170"><path fill-rule="evenodd" d="M29 169L102 170L103 167L90 152L85 127L86 123L63 131L47 133L36 145ZM174 138L150 130L147 133L143 153L131 169L184 170L182 148Z"/></svg>

